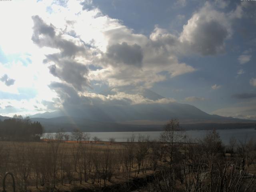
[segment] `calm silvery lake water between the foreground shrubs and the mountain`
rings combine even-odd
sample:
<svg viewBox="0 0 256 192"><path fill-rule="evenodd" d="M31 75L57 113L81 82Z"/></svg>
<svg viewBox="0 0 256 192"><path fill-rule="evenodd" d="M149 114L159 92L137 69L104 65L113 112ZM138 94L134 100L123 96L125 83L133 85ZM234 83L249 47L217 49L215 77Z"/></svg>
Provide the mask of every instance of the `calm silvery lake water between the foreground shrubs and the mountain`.
<svg viewBox="0 0 256 192"><path fill-rule="evenodd" d="M220 134L220 138L224 144L228 144L230 138L233 136L238 141L244 142L245 140L250 140L250 138L256 139L256 130L254 128L248 129L226 129L226 130L216 130ZM200 139L204 137L209 130L188 130L185 131L187 138ZM67 132L70 134L71 132ZM115 138L117 142L125 142L127 138L130 138L132 134L135 135L135 141L139 135L149 136L150 140L157 140L160 137L160 131L151 132L90 132L91 138L97 136L102 141L108 141L109 138ZM47 138L48 135L54 136L55 133L46 133L42 138Z"/></svg>

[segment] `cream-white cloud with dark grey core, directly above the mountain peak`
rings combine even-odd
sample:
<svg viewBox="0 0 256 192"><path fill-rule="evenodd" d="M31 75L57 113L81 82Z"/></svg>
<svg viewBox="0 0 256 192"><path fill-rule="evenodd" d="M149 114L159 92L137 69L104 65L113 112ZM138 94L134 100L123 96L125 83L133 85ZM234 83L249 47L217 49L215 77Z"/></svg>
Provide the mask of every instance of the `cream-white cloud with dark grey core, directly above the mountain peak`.
<svg viewBox="0 0 256 192"><path fill-rule="evenodd" d="M92 61L101 69L90 71L90 80L103 81L109 86L144 85L150 88L156 82L196 71L178 61L178 38L158 26L150 38L134 34L124 26L105 34L109 39L106 52L101 52L100 57Z"/></svg>

